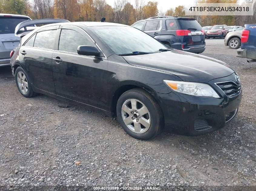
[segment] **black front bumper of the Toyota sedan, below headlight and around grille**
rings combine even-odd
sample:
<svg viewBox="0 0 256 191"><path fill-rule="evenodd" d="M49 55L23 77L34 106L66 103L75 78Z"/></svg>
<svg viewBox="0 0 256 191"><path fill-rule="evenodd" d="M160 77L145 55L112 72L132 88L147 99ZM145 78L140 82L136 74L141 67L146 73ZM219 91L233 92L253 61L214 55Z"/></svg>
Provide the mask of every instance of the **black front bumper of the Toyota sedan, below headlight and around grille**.
<svg viewBox="0 0 256 191"><path fill-rule="evenodd" d="M238 113L240 92L228 97L216 83L235 78L235 73L208 82L221 98L199 97L178 92L152 93L164 114L165 130L180 135L201 135L223 128Z"/></svg>

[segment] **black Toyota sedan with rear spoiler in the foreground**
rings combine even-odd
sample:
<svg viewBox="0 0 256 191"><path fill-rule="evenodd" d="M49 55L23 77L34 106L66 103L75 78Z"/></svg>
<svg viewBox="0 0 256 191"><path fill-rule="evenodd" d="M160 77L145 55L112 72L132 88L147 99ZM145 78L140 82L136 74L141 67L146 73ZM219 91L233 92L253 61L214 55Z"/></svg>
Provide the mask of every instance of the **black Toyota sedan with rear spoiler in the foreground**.
<svg viewBox="0 0 256 191"><path fill-rule="evenodd" d="M117 116L139 139L163 129L183 135L220 129L238 113L242 97L238 75L224 62L168 49L115 23L39 27L22 38L11 65L24 97L46 94Z"/></svg>

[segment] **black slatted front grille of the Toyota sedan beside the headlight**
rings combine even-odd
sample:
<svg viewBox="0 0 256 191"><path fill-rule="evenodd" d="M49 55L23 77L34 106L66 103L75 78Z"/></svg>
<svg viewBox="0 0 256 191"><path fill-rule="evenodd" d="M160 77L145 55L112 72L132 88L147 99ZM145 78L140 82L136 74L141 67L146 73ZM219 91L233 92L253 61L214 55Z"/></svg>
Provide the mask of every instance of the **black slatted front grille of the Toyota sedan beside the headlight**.
<svg viewBox="0 0 256 191"><path fill-rule="evenodd" d="M220 82L216 83L219 88L228 96L228 97L234 97L238 94L240 94L242 86L240 84L236 84L234 81L226 81L226 82Z"/></svg>

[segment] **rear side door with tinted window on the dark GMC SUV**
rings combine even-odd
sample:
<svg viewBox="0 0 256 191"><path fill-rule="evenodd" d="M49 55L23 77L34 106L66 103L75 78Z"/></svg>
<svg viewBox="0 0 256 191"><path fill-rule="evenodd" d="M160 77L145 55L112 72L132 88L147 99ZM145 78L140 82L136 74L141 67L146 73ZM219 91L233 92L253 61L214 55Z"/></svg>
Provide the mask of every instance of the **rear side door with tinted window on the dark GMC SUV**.
<svg viewBox="0 0 256 191"><path fill-rule="evenodd" d="M161 29L161 20L146 21L144 32L149 34L151 37L155 37L157 35L161 35Z"/></svg>

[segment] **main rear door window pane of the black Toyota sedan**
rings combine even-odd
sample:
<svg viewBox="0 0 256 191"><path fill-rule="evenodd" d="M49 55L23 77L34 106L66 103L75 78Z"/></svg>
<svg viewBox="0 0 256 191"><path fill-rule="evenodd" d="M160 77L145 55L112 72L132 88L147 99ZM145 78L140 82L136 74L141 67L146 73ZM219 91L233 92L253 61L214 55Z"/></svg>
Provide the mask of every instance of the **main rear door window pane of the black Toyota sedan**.
<svg viewBox="0 0 256 191"><path fill-rule="evenodd" d="M36 34L34 47L54 49L54 38L57 30L45 30Z"/></svg>

